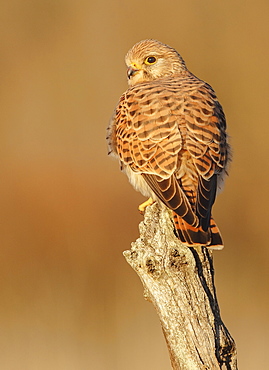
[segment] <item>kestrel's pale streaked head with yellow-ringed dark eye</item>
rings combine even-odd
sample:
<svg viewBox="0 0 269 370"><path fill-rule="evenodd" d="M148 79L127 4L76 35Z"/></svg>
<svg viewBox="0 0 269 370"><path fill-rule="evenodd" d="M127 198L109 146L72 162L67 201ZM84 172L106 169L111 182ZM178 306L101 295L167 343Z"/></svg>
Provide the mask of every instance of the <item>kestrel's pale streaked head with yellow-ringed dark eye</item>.
<svg viewBox="0 0 269 370"><path fill-rule="evenodd" d="M125 57L130 86L153 81L186 70L178 52L156 40L144 40L135 44Z"/></svg>

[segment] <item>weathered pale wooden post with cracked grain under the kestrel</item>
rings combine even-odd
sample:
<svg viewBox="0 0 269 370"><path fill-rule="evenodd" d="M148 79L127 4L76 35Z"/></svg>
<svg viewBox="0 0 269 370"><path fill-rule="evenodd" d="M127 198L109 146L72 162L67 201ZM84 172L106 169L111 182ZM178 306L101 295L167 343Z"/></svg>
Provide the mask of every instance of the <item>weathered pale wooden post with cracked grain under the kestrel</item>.
<svg viewBox="0 0 269 370"><path fill-rule="evenodd" d="M140 238L124 256L159 315L173 369L237 369L234 340L220 317L212 252L174 236L170 211L148 206Z"/></svg>

